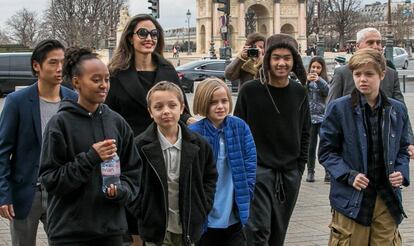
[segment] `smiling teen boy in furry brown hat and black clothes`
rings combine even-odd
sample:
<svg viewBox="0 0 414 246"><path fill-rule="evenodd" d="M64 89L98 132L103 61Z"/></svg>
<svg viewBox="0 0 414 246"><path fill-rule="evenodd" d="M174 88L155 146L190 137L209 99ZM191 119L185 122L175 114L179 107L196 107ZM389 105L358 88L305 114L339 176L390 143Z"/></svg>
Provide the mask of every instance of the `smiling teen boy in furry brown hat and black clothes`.
<svg viewBox="0 0 414 246"><path fill-rule="evenodd" d="M283 245L307 162L310 115L306 72L295 39L276 34L266 41L260 79L240 90L234 115L250 126L257 148L257 176L247 245Z"/></svg>

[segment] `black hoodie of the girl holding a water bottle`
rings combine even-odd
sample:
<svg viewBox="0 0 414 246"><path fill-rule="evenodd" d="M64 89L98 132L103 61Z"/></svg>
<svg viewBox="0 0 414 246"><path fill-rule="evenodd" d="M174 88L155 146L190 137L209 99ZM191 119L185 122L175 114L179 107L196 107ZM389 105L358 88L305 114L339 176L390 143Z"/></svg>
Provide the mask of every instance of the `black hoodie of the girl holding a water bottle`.
<svg viewBox="0 0 414 246"><path fill-rule="evenodd" d="M121 160L121 186L110 199L102 191L96 142L115 139ZM127 230L124 205L135 199L141 159L124 119L101 105L89 113L62 101L45 129L40 178L48 192L47 234L54 243L77 243Z"/></svg>

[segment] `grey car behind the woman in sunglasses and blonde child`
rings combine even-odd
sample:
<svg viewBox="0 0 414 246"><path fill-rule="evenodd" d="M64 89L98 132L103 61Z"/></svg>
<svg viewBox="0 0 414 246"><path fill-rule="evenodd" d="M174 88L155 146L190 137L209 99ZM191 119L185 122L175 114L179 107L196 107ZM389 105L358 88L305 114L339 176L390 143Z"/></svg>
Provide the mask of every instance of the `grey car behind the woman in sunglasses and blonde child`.
<svg viewBox="0 0 414 246"><path fill-rule="evenodd" d="M226 60L203 59L186 63L176 68L181 85L185 92L193 92L194 81L217 77L224 80ZM237 91L238 81L232 81L232 91Z"/></svg>

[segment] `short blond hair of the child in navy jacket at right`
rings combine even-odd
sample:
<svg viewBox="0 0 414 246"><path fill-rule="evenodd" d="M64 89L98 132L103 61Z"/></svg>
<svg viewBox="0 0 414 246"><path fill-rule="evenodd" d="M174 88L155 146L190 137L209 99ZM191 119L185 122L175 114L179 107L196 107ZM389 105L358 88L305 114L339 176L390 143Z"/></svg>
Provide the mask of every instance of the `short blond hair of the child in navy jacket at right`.
<svg viewBox="0 0 414 246"><path fill-rule="evenodd" d="M360 49L349 60L349 69L354 71L366 64L372 64L379 75L384 75L387 62L381 52L376 49Z"/></svg>

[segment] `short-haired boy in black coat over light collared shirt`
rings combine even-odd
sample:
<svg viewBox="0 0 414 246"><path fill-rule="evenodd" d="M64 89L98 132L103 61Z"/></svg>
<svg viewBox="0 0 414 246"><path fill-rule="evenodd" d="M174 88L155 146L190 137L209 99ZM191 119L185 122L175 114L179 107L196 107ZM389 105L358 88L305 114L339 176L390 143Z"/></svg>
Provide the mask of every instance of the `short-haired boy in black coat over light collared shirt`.
<svg viewBox="0 0 414 246"><path fill-rule="evenodd" d="M181 88L162 81L147 95L154 122L135 144L143 157L142 189L129 210L146 246L197 242L213 206L217 171L210 145L181 122Z"/></svg>

